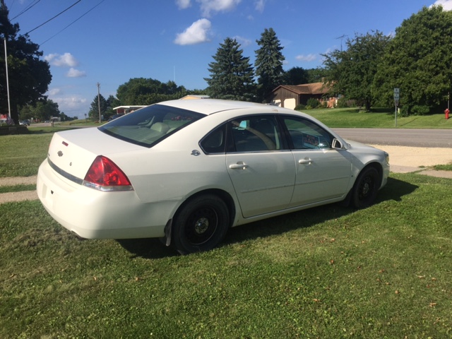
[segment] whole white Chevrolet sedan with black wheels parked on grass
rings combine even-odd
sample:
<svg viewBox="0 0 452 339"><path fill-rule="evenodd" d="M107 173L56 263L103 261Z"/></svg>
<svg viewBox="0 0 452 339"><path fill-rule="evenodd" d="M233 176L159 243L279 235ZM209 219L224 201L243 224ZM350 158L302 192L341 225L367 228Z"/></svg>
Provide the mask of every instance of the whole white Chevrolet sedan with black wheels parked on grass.
<svg viewBox="0 0 452 339"><path fill-rule="evenodd" d="M365 208L388 174L387 153L307 114L172 100L54 133L37 194L79 237L162 237L188 254L248 222L338 201Z"/></svg>

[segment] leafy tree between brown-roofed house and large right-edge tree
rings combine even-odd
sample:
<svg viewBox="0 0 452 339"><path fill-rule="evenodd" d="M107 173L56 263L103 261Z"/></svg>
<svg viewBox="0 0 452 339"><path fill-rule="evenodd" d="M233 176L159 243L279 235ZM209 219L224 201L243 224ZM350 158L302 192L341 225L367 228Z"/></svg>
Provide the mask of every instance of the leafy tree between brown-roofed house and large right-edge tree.
<svg viewBox="0 0 452 339"><path fill-rule="evenodd" d="M391 37L378 30L366 35L356 34L353 39L347 39L347 49L324 54L323 64L333 91L357 100L369 111L374 102L371 85L390 41Z"/></svg>

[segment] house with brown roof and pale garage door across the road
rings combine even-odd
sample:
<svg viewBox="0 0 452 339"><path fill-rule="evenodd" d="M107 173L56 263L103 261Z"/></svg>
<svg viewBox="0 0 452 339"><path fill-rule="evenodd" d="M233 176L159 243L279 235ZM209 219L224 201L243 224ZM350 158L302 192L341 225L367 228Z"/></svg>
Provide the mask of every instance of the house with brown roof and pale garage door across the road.
<svg viewBox="0 0 452 339"><path fill-rule="evenodd" d="M335 107L336 97L328 96L329 87L326 83L304 83L303 85L279 85L268 97L272 105L295 109L297 105L307 105L314 97L319 102L326 102L327 107Z"/></svg>

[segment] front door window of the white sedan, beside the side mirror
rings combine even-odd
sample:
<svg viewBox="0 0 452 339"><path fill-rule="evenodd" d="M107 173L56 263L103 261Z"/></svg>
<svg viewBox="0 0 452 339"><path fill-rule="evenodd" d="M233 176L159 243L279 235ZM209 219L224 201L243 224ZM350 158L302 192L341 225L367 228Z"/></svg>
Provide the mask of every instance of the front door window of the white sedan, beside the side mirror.
<svg viewBox="0 0 452 339"><path fill-rule="evenodd" d="M285 126L296 150L331 148L333 136L308 119L284 117Z"/></svg>

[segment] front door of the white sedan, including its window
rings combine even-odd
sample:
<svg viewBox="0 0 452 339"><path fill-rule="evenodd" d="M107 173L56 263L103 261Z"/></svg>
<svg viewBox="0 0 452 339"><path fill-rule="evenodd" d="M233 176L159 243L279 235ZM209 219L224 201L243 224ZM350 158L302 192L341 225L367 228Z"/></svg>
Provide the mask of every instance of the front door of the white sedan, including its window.
<svg viewBox="0 0 452 339"><path fill-rule="evenodd" d="M283 117L292 142L296 179L290 206L344 196L352 174L347 150L332 148L331 133L302 117Z"/></svg>

